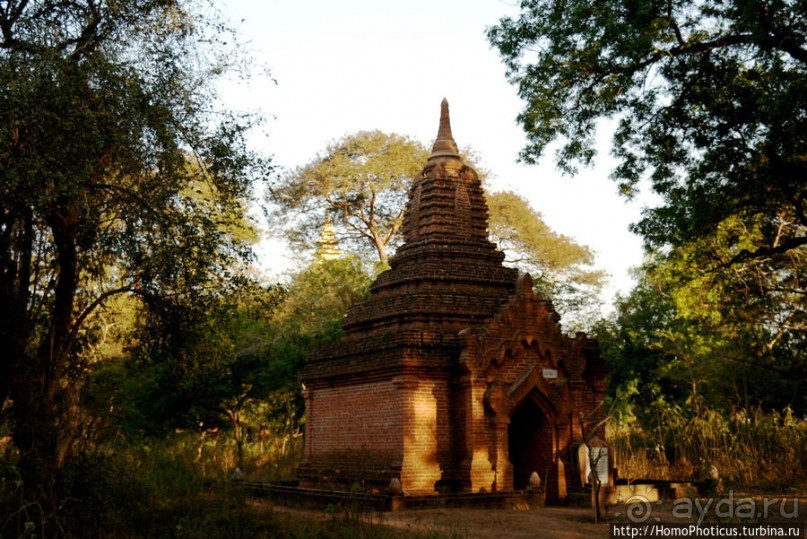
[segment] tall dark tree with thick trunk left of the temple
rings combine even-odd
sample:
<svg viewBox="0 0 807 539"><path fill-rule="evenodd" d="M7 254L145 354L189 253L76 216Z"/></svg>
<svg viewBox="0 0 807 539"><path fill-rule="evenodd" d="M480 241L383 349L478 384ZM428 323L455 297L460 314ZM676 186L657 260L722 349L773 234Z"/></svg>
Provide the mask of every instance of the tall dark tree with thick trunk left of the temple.
<svg viewBox="0 0 807 539"><path fill-rule="evenodd" d="M208 293L248 254L248 122L212 86L229 36L192 7L0 3L0 402L48 517L93 313Z"/></svg>

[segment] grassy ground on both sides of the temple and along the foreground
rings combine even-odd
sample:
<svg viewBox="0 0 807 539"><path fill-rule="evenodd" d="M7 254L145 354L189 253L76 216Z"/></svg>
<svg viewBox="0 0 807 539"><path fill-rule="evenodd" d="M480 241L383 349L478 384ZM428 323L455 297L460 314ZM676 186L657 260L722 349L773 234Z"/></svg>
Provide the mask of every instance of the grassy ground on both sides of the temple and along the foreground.
<svg viewBox="0 0 807 539"><path fill-rule="evenodd" d="M739 426L714 420L697 430L682 429L677 445L666 446L672 452L651 445L642 432L616 433L611 440L622 469L632 466L637 477L694 474L696 456L705 454L720 468L724 489L757 494L796 489L803 494L807 475L800 461L807 451L807 423L775 419ZM591 524L585 509L568 514L558 508L384 515L290 511L249 498L232 481L236 467L245 479L293 478L300 442L290 438L253 444L245 448L240 462L225 435L186 432L93 447L64 470L57 486L61 503L54 515L42 514L26 499L14 451L6 443L5 449L0 447L0 539L53 533L90 539L437 538L501 536L503 530L512 537L607 535L607 526ZM750 456L755 466L748 465Z"/></svg>

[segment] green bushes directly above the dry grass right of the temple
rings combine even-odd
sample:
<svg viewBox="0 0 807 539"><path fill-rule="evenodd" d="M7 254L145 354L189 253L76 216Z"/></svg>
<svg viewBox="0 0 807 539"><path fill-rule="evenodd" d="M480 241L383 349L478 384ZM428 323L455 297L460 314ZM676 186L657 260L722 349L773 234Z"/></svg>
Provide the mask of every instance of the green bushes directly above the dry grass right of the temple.
<svg viewBox="0 0 807 539"><path fill-rule="evenodd" d="M621 417L652 429L667 416L691 418L703 409L805 414L805 364L792 342L768 348L770 334L736 323L731 311L711 322L689 318L676 295L640 284L620 302L615 322L597 327L609 391L624 399Z"/></svg>

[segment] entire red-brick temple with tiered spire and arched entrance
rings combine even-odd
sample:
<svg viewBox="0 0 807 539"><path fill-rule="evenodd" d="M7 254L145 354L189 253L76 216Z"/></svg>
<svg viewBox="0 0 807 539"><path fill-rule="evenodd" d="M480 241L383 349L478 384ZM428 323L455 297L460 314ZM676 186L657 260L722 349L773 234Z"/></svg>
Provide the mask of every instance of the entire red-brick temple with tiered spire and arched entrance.
<svg viewBox="0 0 807 539"><path fill-rule="evenodd" d="M398 478L407 495L504 492L537 472L549 500L582 489L581 417L604 413L605 364L596 341L561 331L529 275L502 264L487 227L443 100L404 244L350 309L345 338L300 375L302 486Z"/></svg>

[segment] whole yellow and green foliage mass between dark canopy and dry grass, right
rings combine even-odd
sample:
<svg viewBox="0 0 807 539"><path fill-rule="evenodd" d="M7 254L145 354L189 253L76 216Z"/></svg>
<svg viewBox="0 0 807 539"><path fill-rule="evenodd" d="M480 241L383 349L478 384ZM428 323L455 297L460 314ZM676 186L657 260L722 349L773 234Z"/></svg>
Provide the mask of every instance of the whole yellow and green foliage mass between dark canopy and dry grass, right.
<svg viewBox="0 0 807 539"><path fill-rule="evenodd" d="M622 420L655 432L707 413L807 414L804 304L793 282L803 260L791 253L790 271L752 260L715 269L758 233L727 219L641 268L615 320L598 328Z"/></svg>

